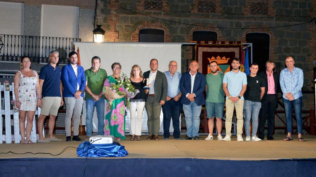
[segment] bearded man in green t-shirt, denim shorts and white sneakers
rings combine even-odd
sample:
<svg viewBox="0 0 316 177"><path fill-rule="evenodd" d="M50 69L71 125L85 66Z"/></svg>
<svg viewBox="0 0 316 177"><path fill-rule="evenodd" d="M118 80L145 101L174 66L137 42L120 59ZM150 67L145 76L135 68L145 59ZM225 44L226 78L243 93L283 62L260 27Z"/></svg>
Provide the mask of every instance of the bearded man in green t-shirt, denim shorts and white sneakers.
<svg viewBox="0 0 316 177"><path fill-rule="evenodd" d="M210 63L211 73L205 76L205 92L206 92L206 112L209 127L209 135L205 140L213 140L213 128L214 128L214 117L216 117L216 128L217 128L217 139L223 140L222 138L222 127L223 127L223 111L224 111L224 90L223 90L223 78L224 74L218 72L218 65L216 61Z"/></svg>

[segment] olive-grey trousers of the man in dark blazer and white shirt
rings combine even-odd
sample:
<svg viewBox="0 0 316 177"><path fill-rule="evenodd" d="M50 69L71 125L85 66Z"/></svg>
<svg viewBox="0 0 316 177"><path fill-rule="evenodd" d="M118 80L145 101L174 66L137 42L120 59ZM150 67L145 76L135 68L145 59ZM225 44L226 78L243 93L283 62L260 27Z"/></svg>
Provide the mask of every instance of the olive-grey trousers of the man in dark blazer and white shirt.
<svg viewBox="0 0 316 177"><path fill-rule="evenodd" d="M147 126L148 133L153 135L159 134L160 129L160 112L161 105L155 101L155 97L149 96L145 103L145 108L147 111Z"/></svg>

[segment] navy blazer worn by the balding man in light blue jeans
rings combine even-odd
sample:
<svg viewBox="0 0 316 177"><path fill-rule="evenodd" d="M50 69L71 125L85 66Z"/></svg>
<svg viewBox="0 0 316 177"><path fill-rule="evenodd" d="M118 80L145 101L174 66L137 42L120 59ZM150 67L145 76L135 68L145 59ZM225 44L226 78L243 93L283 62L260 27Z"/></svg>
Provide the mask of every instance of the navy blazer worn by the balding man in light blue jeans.
<svg viewBox="0 0 316 177"><path fill-rule="evenodd" d="M186 94L191 94L191 75L189 72L183 73L180 80L180 91L182 92L181 103L185 105L189 105L191 103L190 100L185 97ZM193 93L196 96L194 97L194 102L197 106L205 105L204 91L205 76L204 74L197 72L193 84Z"/></svg>

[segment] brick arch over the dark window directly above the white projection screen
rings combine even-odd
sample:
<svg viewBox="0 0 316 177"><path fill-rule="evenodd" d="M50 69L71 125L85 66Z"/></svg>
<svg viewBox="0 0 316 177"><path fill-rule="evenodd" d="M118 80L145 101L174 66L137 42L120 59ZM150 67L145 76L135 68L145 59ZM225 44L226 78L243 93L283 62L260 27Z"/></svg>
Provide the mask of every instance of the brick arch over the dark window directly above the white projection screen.
<svg viewBox="0 0 316 177"><path fill-rule="evenodd" d="M132 41L138 42L139 30L143 28L156 28L165 31L165 43L170 43L171 41L171 27L161 21L142 21L135 25L135 31L132 32Z"/></svg>

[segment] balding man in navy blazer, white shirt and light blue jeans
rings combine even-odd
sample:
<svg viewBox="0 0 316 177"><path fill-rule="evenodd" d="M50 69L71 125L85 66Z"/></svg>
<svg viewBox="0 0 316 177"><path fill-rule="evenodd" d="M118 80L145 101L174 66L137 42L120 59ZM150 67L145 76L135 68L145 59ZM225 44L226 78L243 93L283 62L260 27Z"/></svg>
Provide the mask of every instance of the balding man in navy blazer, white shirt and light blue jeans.
<svg viewBox="0 0 316 177"><path fill-rule="evenodd" d="M200 114L202 105L205 104L205 76L197 72L198 63L190 63L190 71L182 74L180 91L182 92L181 103L185 115L186 136L184 140L199 140Z"/></svg>

